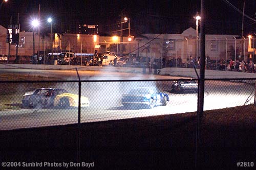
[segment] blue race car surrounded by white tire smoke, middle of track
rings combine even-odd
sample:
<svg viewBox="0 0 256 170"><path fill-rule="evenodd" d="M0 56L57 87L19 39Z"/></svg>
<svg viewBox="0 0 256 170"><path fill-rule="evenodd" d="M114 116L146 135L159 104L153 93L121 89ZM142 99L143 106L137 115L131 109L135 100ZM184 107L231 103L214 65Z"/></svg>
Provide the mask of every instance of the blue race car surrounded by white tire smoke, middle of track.
<svg viewBox="0 0 256 170"><path fill-rule="evenodd" d="M122 96L122 105L144 105L149 108L155 106L166 106L169 101L169 96L166 93L160 92L156 87L138 87L130 90L128 94Z"/></svg>

